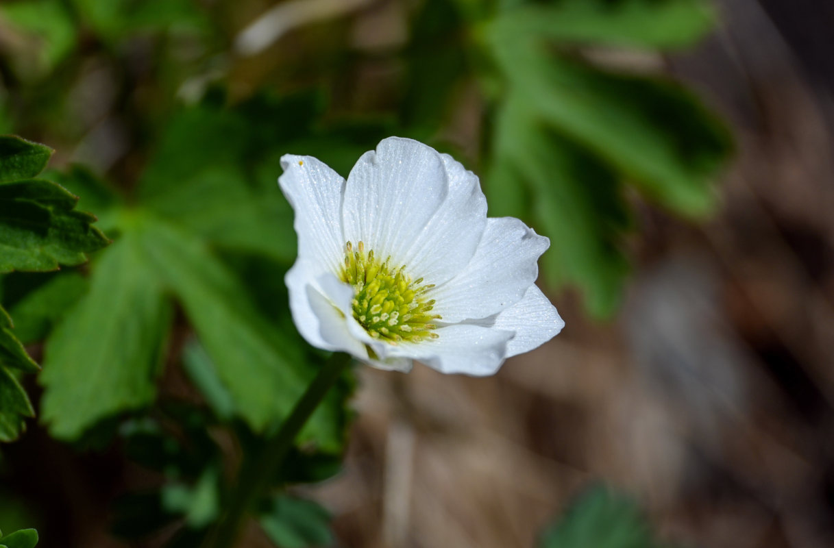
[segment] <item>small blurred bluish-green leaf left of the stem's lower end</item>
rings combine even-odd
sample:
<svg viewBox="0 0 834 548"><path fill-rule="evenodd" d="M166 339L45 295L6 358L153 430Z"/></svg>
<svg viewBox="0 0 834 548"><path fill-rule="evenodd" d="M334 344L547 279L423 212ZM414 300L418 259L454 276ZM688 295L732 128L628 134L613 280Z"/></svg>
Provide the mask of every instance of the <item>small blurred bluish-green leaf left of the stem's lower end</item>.
<svg viewBox="0 0 834 548"><path fill-rule="evenodd" d="M193 529L204 527L219 513L218 482L218 470L208 467L196 485L165 485L162 490L163 508L172 514L185 515L185 523Z"/></svg>

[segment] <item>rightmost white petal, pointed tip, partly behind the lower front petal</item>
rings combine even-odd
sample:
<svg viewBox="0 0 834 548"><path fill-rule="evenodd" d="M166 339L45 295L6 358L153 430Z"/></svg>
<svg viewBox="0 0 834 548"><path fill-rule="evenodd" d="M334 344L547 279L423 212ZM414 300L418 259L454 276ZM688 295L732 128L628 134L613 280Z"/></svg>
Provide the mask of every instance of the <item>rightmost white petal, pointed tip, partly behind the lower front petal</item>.
<svg viewBox="0 0 834 548"><path fill-rule="evenodd" d="M545 344L565 327L565 321L556 312L556 307L535 285L530 285L524 299L518 303L491 319L476 320L473 324L514 331L515 337L507 344L507 358Z"/></svg>

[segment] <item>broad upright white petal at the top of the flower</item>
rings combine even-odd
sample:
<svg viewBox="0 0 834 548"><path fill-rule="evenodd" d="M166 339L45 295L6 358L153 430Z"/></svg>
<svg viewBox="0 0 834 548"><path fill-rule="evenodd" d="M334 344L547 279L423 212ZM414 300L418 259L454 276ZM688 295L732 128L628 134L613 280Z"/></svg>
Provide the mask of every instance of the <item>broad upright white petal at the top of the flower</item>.
<svg viewBox="0 0 834 548"><path fill-rule="evenodd" d="M405 254L446 198L443 158L425 144L386 138L364 153L348 176L342 219L345 239L406 264Z"/></svg>

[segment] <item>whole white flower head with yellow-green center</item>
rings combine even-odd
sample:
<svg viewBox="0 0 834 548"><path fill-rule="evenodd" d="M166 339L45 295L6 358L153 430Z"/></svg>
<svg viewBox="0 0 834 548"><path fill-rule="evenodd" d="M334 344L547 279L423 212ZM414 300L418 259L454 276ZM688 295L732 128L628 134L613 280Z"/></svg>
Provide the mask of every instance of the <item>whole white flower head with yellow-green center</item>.
<svg viewBox="0 0 834 548"><path fill-rule="evenodd" d="M347 181L309 156L281 165L299 235L289 305L309 344L383 369L491 375L565 325L534 284L550 240L487 219L478 178L448 154L392 137Z"/></svg>

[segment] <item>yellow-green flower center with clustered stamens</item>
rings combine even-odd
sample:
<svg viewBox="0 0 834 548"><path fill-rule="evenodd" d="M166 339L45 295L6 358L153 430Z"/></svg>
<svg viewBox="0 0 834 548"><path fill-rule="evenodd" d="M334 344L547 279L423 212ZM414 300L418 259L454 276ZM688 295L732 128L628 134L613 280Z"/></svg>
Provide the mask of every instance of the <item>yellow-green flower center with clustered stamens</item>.
<svg viewBox="0 0 834 548"><path fill-rule="evenodd" d="M364 244L344 245L344 268L339 277L354 287L354 318L374 339L391 343L401 340L437 339L432 321L440 315L431 314L435 301L426 300L425 293L435 284L412 280L405 267L394 268L391 258L379 261L371 249L365 254Z"/></svg>

